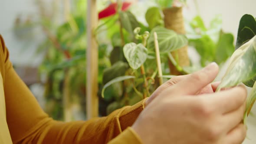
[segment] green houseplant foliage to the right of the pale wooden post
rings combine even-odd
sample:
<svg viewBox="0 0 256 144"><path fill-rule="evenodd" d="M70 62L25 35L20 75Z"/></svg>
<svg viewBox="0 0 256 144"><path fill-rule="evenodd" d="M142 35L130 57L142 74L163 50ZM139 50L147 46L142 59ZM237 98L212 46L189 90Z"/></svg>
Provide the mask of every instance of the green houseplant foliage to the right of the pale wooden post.
<svg viewBox="0 0 256 144"><path fill-rule="evenodd" d="M170 75L168 59L183 74L193 72L195 70L194 65L182 67L178 65L176 59L170 54L170 52L187 45L188 42L198 50L202 66L206 65L207 62L216 61L216 59L218 59L217 63L221 64L234 51L233 35L224 33L221 30L222 20L220 17L213 19L210 28L207 29L200 16L197 16L189 23L190 33L187 36L164 28L162 8L173 7L173 4L163 5L162 2L164 1L159 1L158 7L148 8L145 13L146 25L140 23L136 15L131 13L129 9L122 11L122 3L119 3L119 6L116 7L116 13L101 19L95 31L96 34L100 34L103 33L102 29L103 31L105 29L105 33L107 33L108 37L111 37L110 43L112 43L113 49L110 59L115 60L112 60L111 67L103 72L103 79L107 80L102 85L100 84L99 90L105 101L112 101L108 105L107 113L125 105L133 105L142 98L150 96L161 85L160 79L167 80L173 77L174 75ZM197 24L197 22L200 23ZM113 26L113 23L116 25ZM202 29L202 31L197 33L199 29ZM211 33L212 31L214 33ZM158 74L154 32L158 36L162 69L161 77ZM213 41L210 47L211 50L206 45L207 40L205 40L205 37L207 37L207 40ZM228 40L222 41L226 37ZM196 44L193 44L192 41ZM198 48L197 46L201 41L205 45ZM224 47L228 47L225 52L223 52ZM221 51L223 53L219 55ZM206 62L206 55L211 56L213 59ZM215 58L216 56L219 58ZM118 92L113 92L117 89Z"/></svg>

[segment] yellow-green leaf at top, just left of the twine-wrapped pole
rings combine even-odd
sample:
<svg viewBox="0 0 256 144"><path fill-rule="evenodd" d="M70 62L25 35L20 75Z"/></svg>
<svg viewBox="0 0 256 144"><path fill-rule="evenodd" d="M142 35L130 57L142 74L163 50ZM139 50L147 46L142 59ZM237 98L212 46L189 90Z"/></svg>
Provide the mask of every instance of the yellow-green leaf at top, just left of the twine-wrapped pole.
<svg viewBox="0 0 256 144"><path fill-rule="evenodd" d="M151 7L146 12L146 20L150 29L156 26L163 25L163 19L158 7Z"/></svg>

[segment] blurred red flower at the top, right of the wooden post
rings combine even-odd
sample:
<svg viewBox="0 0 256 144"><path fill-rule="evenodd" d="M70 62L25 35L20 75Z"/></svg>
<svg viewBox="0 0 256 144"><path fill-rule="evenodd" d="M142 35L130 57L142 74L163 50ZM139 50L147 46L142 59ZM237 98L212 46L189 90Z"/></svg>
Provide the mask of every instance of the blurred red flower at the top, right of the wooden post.
<svg viewBox="0 0 256 144"><path fill-rule="evenodd" d="M122 11L127 10L131 6L131 3L123 2L122 3ZM103 19L108 16L112 16L117 12L118 4L111 3L108 7L98 13L98 19Z"/></svg>

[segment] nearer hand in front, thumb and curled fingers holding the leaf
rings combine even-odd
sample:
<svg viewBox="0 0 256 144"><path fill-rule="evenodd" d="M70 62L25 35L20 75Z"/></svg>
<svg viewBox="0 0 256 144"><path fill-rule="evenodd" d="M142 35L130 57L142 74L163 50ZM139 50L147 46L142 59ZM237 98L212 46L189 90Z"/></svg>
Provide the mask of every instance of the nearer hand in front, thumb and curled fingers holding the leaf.
<svg viewBox="0 0 256 144"><path fill-rule="evenodd" d="M161 92L132 128L144 144L241 144L246 89L199 94L214 79L214 67L191 74Z"/></svg>

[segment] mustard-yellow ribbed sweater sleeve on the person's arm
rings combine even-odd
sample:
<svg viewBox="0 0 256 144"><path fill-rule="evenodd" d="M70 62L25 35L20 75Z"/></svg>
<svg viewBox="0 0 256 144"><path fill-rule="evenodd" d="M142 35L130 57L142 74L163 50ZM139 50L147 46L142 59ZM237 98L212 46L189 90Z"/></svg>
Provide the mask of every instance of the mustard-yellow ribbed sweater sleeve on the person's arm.
<svg viewBox="0 0 256 144"><path fill-rule="evenodd" d="M139 143L138 136L129 127L144 109L144 100L116 110L107 117L89 121L55 121L40 108L29 88L16 74L1 36L0 40L0 72L13 144L106 144L115 137L110 144Z"/></svg>

